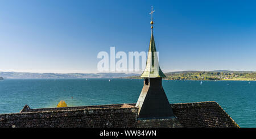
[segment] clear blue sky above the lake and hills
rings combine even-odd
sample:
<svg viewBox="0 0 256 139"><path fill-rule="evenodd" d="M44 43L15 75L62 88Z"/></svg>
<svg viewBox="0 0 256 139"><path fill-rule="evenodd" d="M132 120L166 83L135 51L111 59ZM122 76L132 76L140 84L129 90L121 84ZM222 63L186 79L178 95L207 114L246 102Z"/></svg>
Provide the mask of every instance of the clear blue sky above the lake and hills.
<svg viewBox="0 0 256 139"><path fill-rule="evenodd" d="M256 1L0 0L0 71L97 73L100 51L146 51L161 69L256 71Z"/></svg>

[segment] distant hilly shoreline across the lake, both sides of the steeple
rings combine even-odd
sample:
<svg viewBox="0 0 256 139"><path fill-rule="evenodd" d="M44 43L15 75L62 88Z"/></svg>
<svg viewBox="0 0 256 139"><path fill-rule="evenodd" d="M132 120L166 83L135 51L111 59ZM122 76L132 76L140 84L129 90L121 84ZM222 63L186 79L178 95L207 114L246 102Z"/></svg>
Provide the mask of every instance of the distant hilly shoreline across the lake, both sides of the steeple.
<svg viewBox="0 0 256 139"><path fill-rule="evenodd" d="M256 71L229 71L229 70L214 70L214 71L175 71L164 73L167 78L165 80L189 80L189 81L256 81ZM141 74L135 73L16 73L16 72L1 72L0 77L4 79L112 79L112 78L127 78L141 79Z"/></svg>

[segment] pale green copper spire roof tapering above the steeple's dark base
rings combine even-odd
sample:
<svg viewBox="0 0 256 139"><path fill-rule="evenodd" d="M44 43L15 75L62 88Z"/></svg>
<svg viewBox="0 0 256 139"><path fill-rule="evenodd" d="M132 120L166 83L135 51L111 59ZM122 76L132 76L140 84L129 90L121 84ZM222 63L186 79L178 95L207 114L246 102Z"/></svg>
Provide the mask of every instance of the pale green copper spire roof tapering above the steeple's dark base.
<svg viewBox="0 0 256 139"><path fill-rule="evenodd" d="M159 66L158 54L156 53L155 40L154 40L152 28L151 28L150 46L147 54L147 64L141 77L142 78L166 77L166 75L164 75L163 71L160 69L160 66Z"/></svg>

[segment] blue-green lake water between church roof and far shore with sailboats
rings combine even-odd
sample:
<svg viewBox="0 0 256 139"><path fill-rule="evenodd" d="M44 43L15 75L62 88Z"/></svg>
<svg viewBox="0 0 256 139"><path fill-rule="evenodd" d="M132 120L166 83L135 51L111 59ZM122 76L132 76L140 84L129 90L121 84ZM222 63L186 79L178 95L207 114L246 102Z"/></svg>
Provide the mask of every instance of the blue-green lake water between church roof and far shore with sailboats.
<svg viewBox="0 0 256 139"><path fill-rule="evenodd" d="M142 79L5 79L0 81L0 113L31 108L136 103ZM241 127L256 127L256 82L163 81L170 103L216 101ZM73 97L73 99L72 99Z"/></svg>

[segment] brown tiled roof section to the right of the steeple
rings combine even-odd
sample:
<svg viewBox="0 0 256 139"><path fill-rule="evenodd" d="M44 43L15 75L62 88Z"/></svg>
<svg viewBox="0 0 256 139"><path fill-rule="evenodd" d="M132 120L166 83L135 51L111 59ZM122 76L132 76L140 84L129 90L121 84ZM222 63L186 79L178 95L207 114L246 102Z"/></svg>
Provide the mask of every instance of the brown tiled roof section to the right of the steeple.
<svg viewBox="0 0 256 139"><path fill-rule="evenodd" d="M217 102L171 104L183 127L239 127Z"/></svg>

